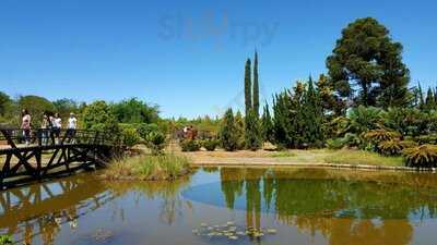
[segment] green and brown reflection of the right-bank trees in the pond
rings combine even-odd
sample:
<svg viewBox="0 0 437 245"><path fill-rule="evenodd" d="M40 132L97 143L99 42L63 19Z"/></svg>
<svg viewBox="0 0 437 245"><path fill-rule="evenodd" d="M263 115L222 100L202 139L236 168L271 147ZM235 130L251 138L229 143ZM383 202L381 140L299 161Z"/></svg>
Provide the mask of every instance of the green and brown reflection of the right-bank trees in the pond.
<svg viewBox="0 0 437 245"><path fill-rule="evenodd" d="M437 211L437 181L429 175L224 168L221 176L228 208L246 199L248 226L260 226L261 207L274 207L279 221L312 236L320 232L331 245L408 244L409 216Z"/></svg>

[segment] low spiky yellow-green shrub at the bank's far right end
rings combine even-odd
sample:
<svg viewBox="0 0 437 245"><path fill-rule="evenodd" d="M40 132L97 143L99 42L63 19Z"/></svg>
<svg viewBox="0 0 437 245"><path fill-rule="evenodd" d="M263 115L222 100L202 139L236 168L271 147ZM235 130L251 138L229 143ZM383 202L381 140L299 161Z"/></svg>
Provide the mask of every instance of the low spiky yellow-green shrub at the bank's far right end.
<svg viewBox="0 0 437 245"><path fill-rule="evenodd" d="M437 146L422 145L403 150L406 164L417 168L435 168L437 167Z"/></svg>

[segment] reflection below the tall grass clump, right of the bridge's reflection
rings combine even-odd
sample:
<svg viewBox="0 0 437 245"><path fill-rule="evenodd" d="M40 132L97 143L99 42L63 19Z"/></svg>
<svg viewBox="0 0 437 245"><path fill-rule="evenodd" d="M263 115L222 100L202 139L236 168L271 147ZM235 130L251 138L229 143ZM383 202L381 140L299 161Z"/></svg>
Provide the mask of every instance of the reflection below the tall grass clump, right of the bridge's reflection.
<svg viewBox="0 0 437 245"><path fill-rule="evenodd" d="M184 205L191 209L190 201L184 201L180 196L181 189L189 183L190 176L185 176L172 182L107 182L106 186L116 196L133 193L137 199L142 196L147 199L161 199L160 218L163 222L173 224L178 217L182 217Z"/></svg>

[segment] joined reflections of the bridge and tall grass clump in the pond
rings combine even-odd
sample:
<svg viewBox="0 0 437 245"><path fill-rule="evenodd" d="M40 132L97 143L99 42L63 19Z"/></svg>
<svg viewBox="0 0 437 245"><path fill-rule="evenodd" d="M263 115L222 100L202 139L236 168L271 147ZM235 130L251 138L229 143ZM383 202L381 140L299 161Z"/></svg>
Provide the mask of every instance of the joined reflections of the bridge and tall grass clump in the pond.
<svg viewBox="0 0 437 245"><path fill-rule="evenodd" d="M162 221L172 224L181 216L184 200L180 188L189 177L175 182L102 182L91 174L79 174L52 182L12 188L0 193L0 234L13 234L16 244L56 244L55 240L66 226L74 231L79 218L111 203L113 219L125 220L123 207L117 198L137 195L137 198L160 198Z"/></svg>

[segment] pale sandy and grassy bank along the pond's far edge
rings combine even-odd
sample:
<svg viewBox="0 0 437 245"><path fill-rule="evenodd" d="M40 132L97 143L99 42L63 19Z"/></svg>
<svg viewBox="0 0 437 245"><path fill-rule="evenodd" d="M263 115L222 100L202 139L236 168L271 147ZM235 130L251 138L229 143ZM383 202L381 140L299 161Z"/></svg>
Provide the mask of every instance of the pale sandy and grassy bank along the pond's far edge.
<svg viewBox="0 0 437 245"><path fill-rule="evenodd" d="M335 162L332 160L333 155L347 156L350 154L358 154L358 157ZM359 155L364 154L364 155ZM288 151L249 151L239 150L227 152L223 150L215 151L193 151L193 152L177 152L191 159L191 167L302 167L302 168L330 168L330 169L356 169L356 170L383 170L383 171L403 171L403 172L430 172L437 173L437 168L418 169L401 166L397 161L388 162L390 157L370 158L369 152L359 150L288 150ZM371 155L371 154L370 154ZM332 162L330 162L332 161ZM339 161L339 160L336 160Z"/></svg>

